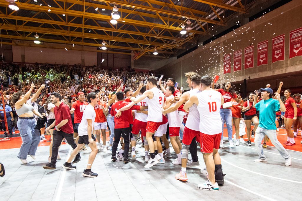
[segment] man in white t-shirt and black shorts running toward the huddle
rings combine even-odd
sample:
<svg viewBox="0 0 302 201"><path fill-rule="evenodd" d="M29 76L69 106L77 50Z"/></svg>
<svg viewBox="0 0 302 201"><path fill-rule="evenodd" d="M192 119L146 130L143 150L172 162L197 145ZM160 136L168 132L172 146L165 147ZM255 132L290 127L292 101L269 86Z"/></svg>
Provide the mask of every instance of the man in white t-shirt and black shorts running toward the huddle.
<svg viewBox="0 0 302 201"><path fill-rule="evenodd" d="M88 105L86 106L81 123L78 127L79 141L76 149L72 151L67 162L63 164L63 168L73 170L76 169L76 166L73 166L71 161L83 148L84 144L88 145L91 149L87 168L84 170L82 175L84 177L97 177L98 174L91 171L91 166L95 160L95 156L98 153L98 148L96 146L95 137L92 135L93 124L95 122L95 105L98 104L98 95L96 93L89 93L87 95Z"/></svg>

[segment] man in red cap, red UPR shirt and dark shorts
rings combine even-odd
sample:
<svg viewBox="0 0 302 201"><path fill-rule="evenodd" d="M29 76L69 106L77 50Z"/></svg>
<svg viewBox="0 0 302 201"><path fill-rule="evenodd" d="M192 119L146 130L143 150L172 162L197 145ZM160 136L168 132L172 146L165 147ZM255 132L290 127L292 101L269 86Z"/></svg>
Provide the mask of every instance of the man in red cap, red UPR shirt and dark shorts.
<svg viewBox="0 0 302 201"><path fill-rule="evenodd" d="M73 137L76 139L76 144L78 144L79 141L79 134L78 134L78 127L82 121L83 112L86 108L86 105L88 105L87 102L85 102L85 95L83 92L78 93L79 100L72 103L70 114L75 113L75 120L74 120L74 126L73 126ZM85 146L82 149L82 151L90 151Z"/></svg>

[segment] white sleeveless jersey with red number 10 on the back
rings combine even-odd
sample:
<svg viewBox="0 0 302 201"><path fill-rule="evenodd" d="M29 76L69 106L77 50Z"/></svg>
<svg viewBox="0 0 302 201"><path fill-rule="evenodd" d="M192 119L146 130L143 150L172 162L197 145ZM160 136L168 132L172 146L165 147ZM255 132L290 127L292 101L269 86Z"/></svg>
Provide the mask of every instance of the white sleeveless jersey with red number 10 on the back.
<svg viewBox="0 0 302 201"><path fill-rule="evenodd" d="M219 114L221 94L218 91L211 89L201 91L196 96L198 98L197 109L200 118L199 131L208 135L221 133L222 127Z"/></svg>

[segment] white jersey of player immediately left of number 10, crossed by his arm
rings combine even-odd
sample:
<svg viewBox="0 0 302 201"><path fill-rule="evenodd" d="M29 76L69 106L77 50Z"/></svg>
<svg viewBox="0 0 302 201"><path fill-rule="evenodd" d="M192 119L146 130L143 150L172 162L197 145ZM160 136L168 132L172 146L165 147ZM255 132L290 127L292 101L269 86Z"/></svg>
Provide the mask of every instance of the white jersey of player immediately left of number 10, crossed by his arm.
<svg viewBox="0 0 302 201"><path fill-rule="evenodd" d="M188 91L190 97L200 93L201 91L199 89L192 89ZM186 127L191 130L198 130L199 131L199 112L197 109L197 105L194 103L189 108L189 115L186 122Z"/></svg>

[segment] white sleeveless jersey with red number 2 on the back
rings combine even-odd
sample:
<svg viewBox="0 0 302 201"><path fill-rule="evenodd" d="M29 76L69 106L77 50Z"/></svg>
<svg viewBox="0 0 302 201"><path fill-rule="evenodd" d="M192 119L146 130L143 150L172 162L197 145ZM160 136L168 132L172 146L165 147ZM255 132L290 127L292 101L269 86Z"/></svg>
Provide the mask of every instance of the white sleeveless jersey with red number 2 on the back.
<svg viewBox="0 0 302 201"><path fill-rule="evenodd" d="M147 121L162 122L162 105L164 104L164 94L156 87L153 87L152 89L150 89L150 91L153 92L153 98L147 98Z"/></svg>

